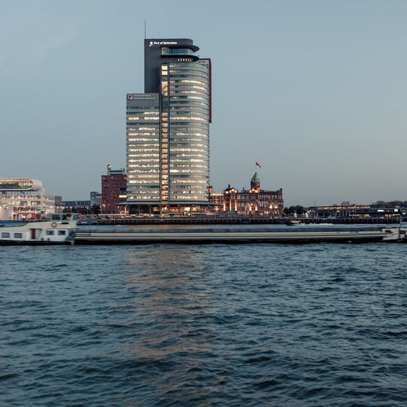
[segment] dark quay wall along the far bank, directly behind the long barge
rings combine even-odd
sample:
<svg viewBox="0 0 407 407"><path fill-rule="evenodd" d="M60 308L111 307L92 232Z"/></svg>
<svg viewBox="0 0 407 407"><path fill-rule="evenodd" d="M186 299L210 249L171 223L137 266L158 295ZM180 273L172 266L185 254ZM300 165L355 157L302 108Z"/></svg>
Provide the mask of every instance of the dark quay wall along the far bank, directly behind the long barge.
<svg viewBox="0 0 407 407"><path fill-rule="evenodd" d="M300 220L305 225L382 225L399 223L391 218L266 218L261 216L177 216L97 219L98 225L285 225L290 220Z"/></svg>

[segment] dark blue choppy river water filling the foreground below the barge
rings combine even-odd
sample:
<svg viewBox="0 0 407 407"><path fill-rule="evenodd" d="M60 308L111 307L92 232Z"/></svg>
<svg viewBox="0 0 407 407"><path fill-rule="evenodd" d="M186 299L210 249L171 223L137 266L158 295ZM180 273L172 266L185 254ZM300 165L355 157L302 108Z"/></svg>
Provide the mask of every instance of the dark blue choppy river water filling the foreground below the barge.
<svg viewBox="0 0 407 407"><path fill-rule="evenodd" d="M0 247L0 405L404 407L406 249Z"/></svg>

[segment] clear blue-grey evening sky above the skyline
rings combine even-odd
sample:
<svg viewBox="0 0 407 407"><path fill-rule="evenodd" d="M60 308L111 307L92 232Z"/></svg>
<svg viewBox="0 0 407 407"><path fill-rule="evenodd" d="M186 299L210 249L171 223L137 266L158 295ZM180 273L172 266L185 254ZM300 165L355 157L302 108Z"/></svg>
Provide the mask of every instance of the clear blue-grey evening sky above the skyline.
<svg viewBox="0 0 407 407"><path fill-rule="evenodd" d="M0 0L0 177L84 200L126 167L146 20L212 59L215 191L257 171L285 206L407 200L406 16L404 0Z"/></svg>

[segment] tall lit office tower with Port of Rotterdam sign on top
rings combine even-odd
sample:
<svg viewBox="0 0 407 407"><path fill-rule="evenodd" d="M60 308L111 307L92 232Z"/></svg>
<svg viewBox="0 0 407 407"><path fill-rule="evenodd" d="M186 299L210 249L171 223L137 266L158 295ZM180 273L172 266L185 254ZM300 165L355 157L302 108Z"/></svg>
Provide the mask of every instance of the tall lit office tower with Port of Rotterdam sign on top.
<svg viewBox="0 0 407 407"><path fill-rule="evenodd" d="M127 94L130 213L208 204L211 60L192 40L144 40L144 92Z"/></svg>

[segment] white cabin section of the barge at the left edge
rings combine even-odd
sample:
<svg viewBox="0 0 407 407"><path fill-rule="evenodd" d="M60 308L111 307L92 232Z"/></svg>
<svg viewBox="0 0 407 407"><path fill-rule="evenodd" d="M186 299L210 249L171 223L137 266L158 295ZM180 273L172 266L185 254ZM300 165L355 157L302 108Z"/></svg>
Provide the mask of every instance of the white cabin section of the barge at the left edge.
<svg viewBox="0 0 407 407"><path fill-rule="evenodd" d="M73 244L76 213L54 213L43 221L0 225L1 244Z"/></svg>

